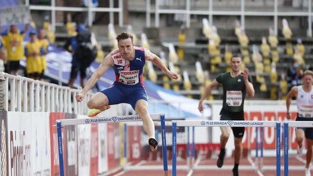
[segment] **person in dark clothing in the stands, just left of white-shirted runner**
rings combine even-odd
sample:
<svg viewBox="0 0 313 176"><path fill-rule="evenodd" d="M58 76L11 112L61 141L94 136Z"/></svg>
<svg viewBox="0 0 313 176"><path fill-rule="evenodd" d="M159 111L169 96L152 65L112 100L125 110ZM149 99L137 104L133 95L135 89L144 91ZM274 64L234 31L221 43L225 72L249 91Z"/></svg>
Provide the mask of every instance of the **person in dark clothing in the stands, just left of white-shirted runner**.
<svg viewBox="0 0 313 176"><path fill-rule="evenodd" d="M293 86L301 85L301 68L297 60L293 59L291 65L287 70L287 83L288 83L288 91L291 90Z"/></svg>

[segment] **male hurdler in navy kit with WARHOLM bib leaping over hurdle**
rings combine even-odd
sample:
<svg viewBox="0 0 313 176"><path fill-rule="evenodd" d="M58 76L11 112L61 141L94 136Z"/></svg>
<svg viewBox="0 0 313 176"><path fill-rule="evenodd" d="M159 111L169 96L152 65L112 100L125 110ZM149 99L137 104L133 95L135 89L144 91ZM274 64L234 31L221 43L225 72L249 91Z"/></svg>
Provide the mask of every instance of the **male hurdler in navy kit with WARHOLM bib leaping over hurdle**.
<svg viewBox="0 0 313 176"><path fill-rule="evenodd" d="M143 128L149 135L149 145L153 152L156 151L155 126L148 112L147 94L143 85L143 66L152 61L163 70L170 78L178 79L176 72L167 69L162 60L150 50L133 45L133 36L122 32L117 35L118 49L109 53L92 74L81 93L76 95L76 100L81 102L86 93L100 77L113 66L116 81L110 88L95 93L88 101L88 116L93 117L110 108L110 105L129 103L139 114Z"/></svg>

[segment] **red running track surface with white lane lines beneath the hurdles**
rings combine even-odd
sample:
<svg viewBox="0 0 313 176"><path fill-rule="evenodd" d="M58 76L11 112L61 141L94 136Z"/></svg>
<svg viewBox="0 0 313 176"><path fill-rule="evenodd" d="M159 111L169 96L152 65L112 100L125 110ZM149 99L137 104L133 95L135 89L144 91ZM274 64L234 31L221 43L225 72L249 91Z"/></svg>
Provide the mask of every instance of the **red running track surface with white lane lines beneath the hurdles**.
<svg viewBox="0 0 313 176"><path fill-rule="evenodd" d="M297 159L296 157L289 157L289 175L290 176L303 176L304 175L304 163L305 156L302 159ZM241 176L276 176L276 158L275 157L265 157L263 159L263 172L255 170L253 165L256 164L255 158L249 160L245 157L242 158L239 165L239 174ZM260 158L258 160L260 163ZM216 167L216 159L202 159L197 166L208 167L207 169L195 169L192 176L231 176L231 169L233 167L233 158L226 158L224 161L224 166L222 168ZM181 166L186 167L186 160L180 160L177 164L177 176L186 176L188 174L186 169L179 169ZM157 167L156 169L149 170L147 167ZM172 161L168 161L168 176L172 176ZM196 167L197 167L196 166ZM284 158L281 158L281 176L284 176ZM142 167L142 170L132 170L130 166L129 171L120 171L112 174L112 176L164 176L163 162L162 161L144 161L139 164L135 164L133 168ZM146 167L146 169L144 169ZM313 172L311 172L313 173Z"/></svg>

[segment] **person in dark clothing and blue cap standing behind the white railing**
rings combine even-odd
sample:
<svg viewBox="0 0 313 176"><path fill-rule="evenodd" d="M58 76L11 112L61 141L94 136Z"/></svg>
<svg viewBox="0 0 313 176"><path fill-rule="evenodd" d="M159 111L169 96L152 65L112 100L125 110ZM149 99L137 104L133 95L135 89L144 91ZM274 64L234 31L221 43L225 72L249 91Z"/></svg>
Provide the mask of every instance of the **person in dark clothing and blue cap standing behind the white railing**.
<svg viewBox="0 0 313 176"><path fill-rule="evenodd" d="M79 24L77 27L77 32L87 30L86 26L84 24ZM69 47L71 46L71 47ZM77 57L75 56L75 51L78 47L78 41L77 41L77 35L70 38L67 43L65 44L64 48L67 49L69 52L72 53L72 66L70 71L70 78L68 81L68 87L73 88L75 79L77 77L78 71L80 71L80 85L81 87L85 86L85 78L86 78L86 68L85 66L82 66L79 64ZM71 48L71 49L70 49Z"/></svg>

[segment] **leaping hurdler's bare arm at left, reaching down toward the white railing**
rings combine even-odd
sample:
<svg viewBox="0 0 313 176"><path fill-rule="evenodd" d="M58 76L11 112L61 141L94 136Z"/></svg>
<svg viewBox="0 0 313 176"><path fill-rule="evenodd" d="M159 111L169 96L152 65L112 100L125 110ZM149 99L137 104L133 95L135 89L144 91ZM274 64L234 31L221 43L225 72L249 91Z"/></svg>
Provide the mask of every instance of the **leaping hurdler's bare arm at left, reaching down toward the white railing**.
<svg viewBox="0 0 313 176"><path fill-rule="evenodd" d="M111 57L111 54L108 54L102 63L98 66L96 71L91 75L91 77L88 79L85 87L83 88L82 92L76 95L76 100L78 102L81 102L86 93L92 88L100 79L100 77L109 69L111 65L114 64L114 61Z"/></svg>

